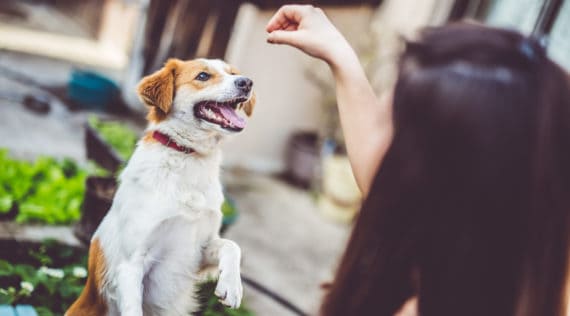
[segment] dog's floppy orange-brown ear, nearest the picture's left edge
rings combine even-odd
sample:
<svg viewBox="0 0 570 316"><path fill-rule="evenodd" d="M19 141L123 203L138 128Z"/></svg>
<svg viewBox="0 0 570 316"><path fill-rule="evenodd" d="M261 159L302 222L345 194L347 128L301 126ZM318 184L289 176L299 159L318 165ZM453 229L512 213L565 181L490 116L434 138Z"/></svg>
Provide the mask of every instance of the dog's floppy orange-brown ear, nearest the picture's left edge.
<svg viewBox="0 0 570 316"><path fill-rule="evenodd" d="M137 87L141 101L159 117L166 116L172 107L174 80L180 62L178 59L169 59L162 69L142 78Z"/></svg>

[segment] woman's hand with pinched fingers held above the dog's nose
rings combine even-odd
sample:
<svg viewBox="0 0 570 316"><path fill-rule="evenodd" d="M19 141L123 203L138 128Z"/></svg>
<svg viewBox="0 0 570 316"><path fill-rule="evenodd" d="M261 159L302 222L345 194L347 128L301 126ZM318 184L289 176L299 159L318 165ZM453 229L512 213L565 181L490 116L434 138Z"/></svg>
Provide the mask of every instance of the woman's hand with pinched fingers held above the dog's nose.
<svg viewBox="0 0 570 316"><path fill-rule="evenodd" d="M281 7L267 23L266 30L269 43L291 45L324 60L333 68L353 54L346 39L323 10L312 5Z"/></svg>

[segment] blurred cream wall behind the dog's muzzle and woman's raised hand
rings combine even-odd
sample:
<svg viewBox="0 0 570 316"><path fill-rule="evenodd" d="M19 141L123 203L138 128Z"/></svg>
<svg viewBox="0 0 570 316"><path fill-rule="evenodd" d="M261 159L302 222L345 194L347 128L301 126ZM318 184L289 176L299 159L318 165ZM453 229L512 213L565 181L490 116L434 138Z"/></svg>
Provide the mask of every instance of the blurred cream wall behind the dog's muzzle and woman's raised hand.
<svg viewBox="0 0 570 316"><path fill-rule="evenodd" d="M368 6L323 9L353 41L368 32L374 12ZM299 129L316 130L319 124L319 93L305 77L312 58L290 47L266 43L265 25L272 14L243 5L229 43L226 60L253 79L257 106L247 128L226 142L226 166L282 171L290 135Z"/></svg>

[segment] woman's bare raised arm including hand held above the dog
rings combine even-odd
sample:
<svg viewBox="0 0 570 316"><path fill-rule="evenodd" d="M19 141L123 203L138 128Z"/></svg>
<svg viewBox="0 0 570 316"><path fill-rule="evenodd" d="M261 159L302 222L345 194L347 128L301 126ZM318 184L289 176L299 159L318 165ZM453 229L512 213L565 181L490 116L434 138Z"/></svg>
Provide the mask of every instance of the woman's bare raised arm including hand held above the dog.
<svg viewBox="0 0 570 316"><path fill-rule="evenodd" d="M321 9L283 6L266 30L269 43L296 47L330 66L348 157L356 182L367 195L392 140L391 98L376 97L356 53Z"/></svg>

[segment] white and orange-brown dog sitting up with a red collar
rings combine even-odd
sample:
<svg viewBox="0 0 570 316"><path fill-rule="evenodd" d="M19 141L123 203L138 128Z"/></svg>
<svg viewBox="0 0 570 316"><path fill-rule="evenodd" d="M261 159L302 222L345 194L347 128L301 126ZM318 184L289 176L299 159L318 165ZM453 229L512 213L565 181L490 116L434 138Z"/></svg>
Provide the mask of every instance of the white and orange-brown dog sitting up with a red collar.
<svg viewBox="0 0 570 316"><path fill-rule="evenodd" d="M137 88L148 128L122 171L89 248L85 288L67 316L177 316L198 308L197 283L238 308L241 250L220 238L220 142L243 130L252 81L221 60L169 60Z"/></svg>

